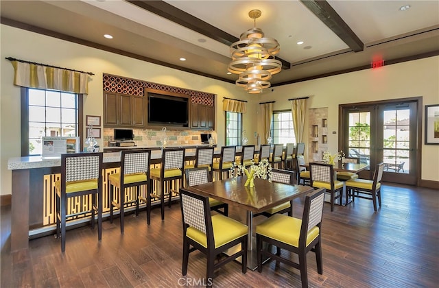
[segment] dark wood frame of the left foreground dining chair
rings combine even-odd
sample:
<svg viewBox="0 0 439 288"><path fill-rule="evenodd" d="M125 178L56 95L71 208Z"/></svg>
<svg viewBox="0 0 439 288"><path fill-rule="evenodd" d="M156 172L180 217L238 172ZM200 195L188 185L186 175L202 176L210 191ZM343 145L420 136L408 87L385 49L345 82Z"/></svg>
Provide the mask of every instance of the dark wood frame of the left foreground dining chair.
<svg viewBox="0 0 439 288"><path fill-rule="evenodd" d="M233 241L230 241L218 248L215 248L215 240L213 235L213 227L212 227L212 219L211 219L211 210L209 209L209 197L204 197L201 195L197 195L194 193L190 193L189 191L185 191L185 189L180 189L180 203L182 203L182 195L188 195L190 197L194 197L195 199L201 200L204 203L204 215L205 215L205 226L206 226L206 237L207 237L207 248L200 245L200 243L193 241L189 237L186 236L186 230L189 227L188 224L185 224L185 215L183 213L183 205L181 205L181 214L182 214L182 223L183 223L183 259L182 259L182 275L185 276L187 274L187 265L189 263L189 253L199 250L207 257L207 267L206 267L206 285L208 287L212 286L213 273L215 269L237 259L239 256L242 256L241 261L241 269L242 273L247 272L247 240L248 235L244 235L239 237ZM220 260L215 264L215 259L219 254L224 253L229 248L241 243L241 250L236 252L233 255L227 256L227 258ZM192 246L192 248L191 248Z"/></svg>

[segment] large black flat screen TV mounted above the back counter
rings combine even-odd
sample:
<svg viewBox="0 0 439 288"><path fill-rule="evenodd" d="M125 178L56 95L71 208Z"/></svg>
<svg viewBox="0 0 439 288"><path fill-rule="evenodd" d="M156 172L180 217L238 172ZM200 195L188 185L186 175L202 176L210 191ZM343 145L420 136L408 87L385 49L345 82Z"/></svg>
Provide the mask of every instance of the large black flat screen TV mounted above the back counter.
<svg viewBox="0 0 439 288"><path fill-rule="evenodd" d="M187 127L188 116L189 103L187 98L148 93L148 123Z"/></svg>

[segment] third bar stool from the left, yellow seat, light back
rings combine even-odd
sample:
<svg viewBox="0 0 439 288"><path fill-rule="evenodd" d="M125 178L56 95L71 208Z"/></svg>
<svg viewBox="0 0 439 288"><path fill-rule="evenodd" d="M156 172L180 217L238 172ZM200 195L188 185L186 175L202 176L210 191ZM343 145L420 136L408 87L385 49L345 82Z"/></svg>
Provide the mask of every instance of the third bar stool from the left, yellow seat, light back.
<svg viewBox="0 0 439 288"><path fill-rule="evenodd" d="M172 193L178 194L178 190L182 187L183 169L185 167L185 149L184 148L166 148L162 152L162 162L159 169L151 169L150 177L160 185L155 193L149 193L146 211L147 217L151 215L151 199L160 198L162 221L165 220L165 195L168 195L168 205L171 207ZM179 181L176 187L176 180ZM167 183L167 192L165 193L165 182ZM171 184L174 182L174 189Z"/></svg>

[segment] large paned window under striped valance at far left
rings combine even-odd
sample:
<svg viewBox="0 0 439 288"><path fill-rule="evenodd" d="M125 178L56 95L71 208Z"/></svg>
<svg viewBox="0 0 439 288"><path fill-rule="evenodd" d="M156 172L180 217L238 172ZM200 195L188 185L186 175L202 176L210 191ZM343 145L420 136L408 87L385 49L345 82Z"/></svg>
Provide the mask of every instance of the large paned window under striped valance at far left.
<svg viewBox="0 0 439 288"><path fill-rule="evenodd" d="M23 156L41 154L42 136L80 136L78 132L80 95L34 88L23 88L23 90L25 91L21 101Z"/></svg>

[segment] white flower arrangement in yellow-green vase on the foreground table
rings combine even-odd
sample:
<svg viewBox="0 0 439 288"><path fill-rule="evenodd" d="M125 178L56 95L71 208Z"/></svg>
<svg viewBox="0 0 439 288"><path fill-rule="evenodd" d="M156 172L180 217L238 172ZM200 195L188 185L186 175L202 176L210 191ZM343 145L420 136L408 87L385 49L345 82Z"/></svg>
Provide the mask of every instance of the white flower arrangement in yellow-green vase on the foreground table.
<svg viewBox="0 0 439 288"><path fill-rule="evenodd" d="M258 165L255 165L252 160L252 165L250 165L250 171L246 169L243 165L237 165L236 162L230 167L229 175L231 178L237 178L240 175L246 174L247 181L245 186L254 187L254 178L261 178L268 181L272 181L272 167L268 163L267 159L261 160Z"/></svg>

